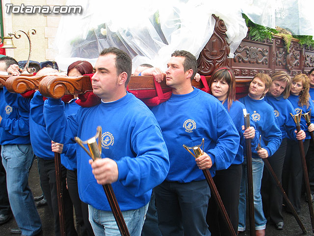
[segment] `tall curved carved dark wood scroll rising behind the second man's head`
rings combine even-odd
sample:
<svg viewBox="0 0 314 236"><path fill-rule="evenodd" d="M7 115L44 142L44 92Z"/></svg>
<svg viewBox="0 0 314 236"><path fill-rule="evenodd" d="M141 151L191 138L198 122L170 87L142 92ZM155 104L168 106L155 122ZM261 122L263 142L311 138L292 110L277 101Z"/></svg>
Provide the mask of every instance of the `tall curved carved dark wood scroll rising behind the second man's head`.
<svg viewBox="0 0 314 236"><path fill-rule="evenodd" d="M212 16L216 20L214 32L197 59L197 72L201 75L210 75L216 68L229 66L227 58L230 48L226 41L226 25L219 17Z"/></svg>

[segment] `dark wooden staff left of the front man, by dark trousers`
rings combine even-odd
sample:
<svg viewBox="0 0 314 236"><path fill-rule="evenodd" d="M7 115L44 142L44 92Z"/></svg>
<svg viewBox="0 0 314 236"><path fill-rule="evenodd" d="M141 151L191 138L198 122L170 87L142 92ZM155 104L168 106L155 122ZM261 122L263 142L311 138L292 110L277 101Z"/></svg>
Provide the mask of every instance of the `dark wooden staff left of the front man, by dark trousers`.
<svg viewBox="0 0 314 236"><path fill-rule="evenodd" d="M59 223L61 236L66 236L65 233L65 219L64 219L64 204L62 196L62 171L61 171L61 157L60 153L54 152L54 166L55 166L55 182L57 186L57 200L59 208Z"/></svg>

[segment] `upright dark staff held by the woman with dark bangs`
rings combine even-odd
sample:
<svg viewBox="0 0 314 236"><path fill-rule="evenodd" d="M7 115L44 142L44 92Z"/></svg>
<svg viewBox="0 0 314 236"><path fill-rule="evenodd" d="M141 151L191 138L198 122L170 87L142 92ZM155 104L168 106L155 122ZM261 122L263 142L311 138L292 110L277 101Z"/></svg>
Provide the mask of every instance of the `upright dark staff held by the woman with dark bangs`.
<svg viewBox="0 0 314 236"><path fill-rule="evenodd" d="M250 127L250 113L243 109L245 129ZM253 176L252 176L252 146L251 139L246 139L246 174L247 174L247 195L249 202L250 236L255 236L254 218L254 195L253 195Z"/></svg>

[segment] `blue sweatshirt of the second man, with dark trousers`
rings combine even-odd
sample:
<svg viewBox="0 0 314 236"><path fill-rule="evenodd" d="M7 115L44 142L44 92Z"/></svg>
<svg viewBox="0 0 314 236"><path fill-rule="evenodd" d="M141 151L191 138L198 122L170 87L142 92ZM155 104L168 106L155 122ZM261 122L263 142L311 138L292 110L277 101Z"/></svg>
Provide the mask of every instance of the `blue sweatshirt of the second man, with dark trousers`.
<svg viewBox="0 0 314 236"><path fill-rule="evenodd" d="M194 157L183 148L199 145L205 138L204 151L212 160L209 169L227 169L235 159L239 134L226 109L212 95L195 89L152 108L166 142L170 170L167 181L182 183L205 179ZM203 147L202 147L203 148Z"/></svg>

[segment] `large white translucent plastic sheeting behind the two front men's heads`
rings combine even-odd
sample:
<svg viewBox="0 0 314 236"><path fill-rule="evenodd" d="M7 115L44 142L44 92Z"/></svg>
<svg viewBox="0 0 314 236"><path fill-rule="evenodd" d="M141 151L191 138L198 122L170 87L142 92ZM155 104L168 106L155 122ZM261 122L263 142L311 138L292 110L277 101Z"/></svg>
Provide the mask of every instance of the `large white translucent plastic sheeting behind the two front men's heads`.
<svg viewBox="0 0 314 236"><path fill-rule="evenodd" d="M165 70L175 50L198 58L214 29L212 14L226 23L230 56L247 33L233 0L68 0L67 5L81 5L82 13L61 17L55 37L61 70L79 59L94 65L107 47L127 52L133 70L142 63Z"/></svg>

